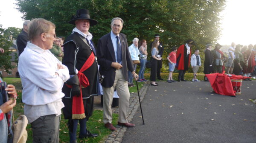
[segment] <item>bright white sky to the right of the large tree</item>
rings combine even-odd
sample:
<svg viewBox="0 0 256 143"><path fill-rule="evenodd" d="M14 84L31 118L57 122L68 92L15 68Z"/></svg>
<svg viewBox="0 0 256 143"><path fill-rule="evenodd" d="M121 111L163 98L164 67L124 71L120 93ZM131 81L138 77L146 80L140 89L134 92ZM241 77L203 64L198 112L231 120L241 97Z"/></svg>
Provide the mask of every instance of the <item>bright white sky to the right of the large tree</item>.
<svg viewBox="0 0 256 143"><path fill-rule="evenodd" d="M227 0L218 41L221 45L256 44L255 6L256 0Z"/></svg>

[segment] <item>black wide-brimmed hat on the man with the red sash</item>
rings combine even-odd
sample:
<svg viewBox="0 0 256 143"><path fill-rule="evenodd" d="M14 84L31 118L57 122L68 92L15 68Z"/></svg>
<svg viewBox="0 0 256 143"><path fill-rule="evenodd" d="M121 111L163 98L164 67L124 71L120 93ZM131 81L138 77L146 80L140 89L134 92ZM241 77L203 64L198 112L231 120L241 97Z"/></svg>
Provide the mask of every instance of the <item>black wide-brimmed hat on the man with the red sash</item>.
<svg viewBox="0 0 256 143"><path fill-rule="evenodd" d="M76 15L72 16L72 20L70 20L68 23L76 25L76 20L89 20L90 26L98 24L98 21L93 20L90 18L89 11L87 9L79 9L76 11Z"/></svg>

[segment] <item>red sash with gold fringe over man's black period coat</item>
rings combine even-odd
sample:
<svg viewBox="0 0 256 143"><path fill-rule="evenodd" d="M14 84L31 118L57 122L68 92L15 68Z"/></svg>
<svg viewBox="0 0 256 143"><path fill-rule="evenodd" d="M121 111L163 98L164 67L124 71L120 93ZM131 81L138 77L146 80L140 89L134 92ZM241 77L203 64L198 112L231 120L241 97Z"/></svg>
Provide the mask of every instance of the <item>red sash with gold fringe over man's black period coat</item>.
<svg viewBox="0 0 256 143"><path fill-rule="evenodd" d="M89 58L86 60L84 65L79 70L77 76L80 82L80 96L73 96L73 103L72 103L72 119L83 119L85 118L84 114L84 104L83 104L83 97L82 97L82 88L87 87L90 85L87 77L84 75L84 71L87 70L94 62L95 56L93 52L90 54Z"/></svg>

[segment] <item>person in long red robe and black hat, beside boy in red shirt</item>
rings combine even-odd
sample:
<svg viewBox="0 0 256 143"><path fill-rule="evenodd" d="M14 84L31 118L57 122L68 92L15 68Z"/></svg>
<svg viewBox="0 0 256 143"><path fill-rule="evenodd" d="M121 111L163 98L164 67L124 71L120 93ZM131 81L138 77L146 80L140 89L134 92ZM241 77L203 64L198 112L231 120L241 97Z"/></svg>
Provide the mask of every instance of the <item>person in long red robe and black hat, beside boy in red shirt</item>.
<svg viewBox="0 0 256 143"><path fill-rule="evenodd" d="M189 69L191 47L193 45L195 45L195 42L189 39L186 41L186 44L181 45L177 50L176 68L179 70L178 81L186 81L184 75Z"/></svg>

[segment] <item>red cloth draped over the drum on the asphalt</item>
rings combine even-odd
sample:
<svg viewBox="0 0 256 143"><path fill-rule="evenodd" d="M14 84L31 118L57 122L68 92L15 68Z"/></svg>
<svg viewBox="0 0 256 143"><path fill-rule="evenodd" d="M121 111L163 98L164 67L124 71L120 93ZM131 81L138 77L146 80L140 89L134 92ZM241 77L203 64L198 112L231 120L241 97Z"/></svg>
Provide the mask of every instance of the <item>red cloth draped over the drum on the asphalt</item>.
<svg viewBox="0 0 256 143"><path fill-rule="evenodd" d="M232 95L236 96L236 91L233 90L233 86L231 83L231 79L247 79L249 77L246 76L236 76L236 75L227 75L223 73L212 73L206 74L212 89L215 93L220 95Z"/></svg>

